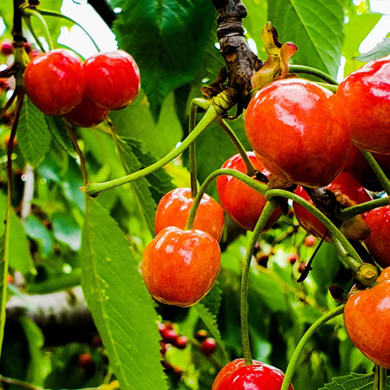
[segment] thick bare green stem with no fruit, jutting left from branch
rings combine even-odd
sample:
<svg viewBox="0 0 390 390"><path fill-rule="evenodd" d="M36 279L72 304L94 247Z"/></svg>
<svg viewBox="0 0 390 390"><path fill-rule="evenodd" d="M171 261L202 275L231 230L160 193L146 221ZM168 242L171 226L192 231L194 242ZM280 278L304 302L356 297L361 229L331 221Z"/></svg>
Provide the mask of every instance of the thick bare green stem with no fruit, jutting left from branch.
<svg viewBox="0 0 390 390"><path fill-rule="evenodd" d="M121 186L123 184L130 183L134 180L137 180L141 177L150 175L153 172L156 172L158 169L162 168L164 165L168 164L174 158L183 153L191 143L198 137L207 126L209 126L217 117L223 114L225 110L218 105L211 104L206 114L202 117L199 123L196 125L195 129L188 135L186 139L171 153L156 161L154 164L149 165L148 167L141 169L138 172L133 174L119 177L114 180L106 181L103 183L88 183L85 187L82 187L81 190L85 191L85 193L89 196L95 197L98 196L102 191L110 190L111 188L115 188Z"/></svg>

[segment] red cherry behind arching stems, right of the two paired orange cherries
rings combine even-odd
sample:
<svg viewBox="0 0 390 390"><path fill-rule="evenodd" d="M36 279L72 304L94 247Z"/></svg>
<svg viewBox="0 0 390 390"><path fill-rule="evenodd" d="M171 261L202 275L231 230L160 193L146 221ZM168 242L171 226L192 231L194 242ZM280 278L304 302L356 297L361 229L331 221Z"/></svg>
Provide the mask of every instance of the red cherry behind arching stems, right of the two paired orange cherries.
<svg viewBox="0 0 390 390"><path fill-rule="evenodd" d="M270 175L253 152L247 152L247 155L255 168L266 176ZM244 161L238 154L230 157L222 165L222 168L234 169L242 173L247 172ZM244 229L254 230L267 202L265 197L233 176L218 176L216 178L216 191L219 203L225 213ZM268 220L265 230L269 229L279 219L280 215L282 215L282 210L278 207Z"/></svg>

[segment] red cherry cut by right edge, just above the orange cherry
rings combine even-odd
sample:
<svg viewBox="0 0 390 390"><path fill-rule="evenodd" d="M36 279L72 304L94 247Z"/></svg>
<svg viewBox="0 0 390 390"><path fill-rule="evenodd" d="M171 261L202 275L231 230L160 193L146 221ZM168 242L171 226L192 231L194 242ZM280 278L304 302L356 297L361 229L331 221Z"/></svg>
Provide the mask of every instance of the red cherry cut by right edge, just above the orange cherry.
<svg viewBox="0 0 390 390"><path fill-rule="evenodd" d="M370 210L366 217L370 235L366 238L367 249L382 267L390 266L390 210L389 206Z"/></svg>

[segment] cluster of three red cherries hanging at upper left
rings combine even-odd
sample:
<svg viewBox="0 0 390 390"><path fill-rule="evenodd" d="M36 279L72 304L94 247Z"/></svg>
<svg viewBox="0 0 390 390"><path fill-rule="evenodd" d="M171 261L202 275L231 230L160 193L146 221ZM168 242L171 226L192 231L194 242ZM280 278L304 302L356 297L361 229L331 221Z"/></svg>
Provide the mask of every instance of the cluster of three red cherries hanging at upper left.
<svg viewBox="0 0 390 390"><path fill-rule="evenodd" d="M63 116L81 127L102 122L136 98L137 63L123 50L97 53L84 63L71 50L57 49L33 58L24 72L26 92L45 115Z"/></svg>

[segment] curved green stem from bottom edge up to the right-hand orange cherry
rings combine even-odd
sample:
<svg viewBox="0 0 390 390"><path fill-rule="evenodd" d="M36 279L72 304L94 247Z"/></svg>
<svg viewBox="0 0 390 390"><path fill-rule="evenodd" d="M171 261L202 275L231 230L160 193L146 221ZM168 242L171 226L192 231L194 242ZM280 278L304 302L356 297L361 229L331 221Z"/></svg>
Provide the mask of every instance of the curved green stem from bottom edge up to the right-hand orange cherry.
<svg viewBox="0 0 390 390"><path fill-rule="evenodd" d="M341 305L337 307L336 309L331 310L330 312L323 315L321 318L319 318L317 321L315 321L312 326L306 331L306 333L302 336L300 339L298 345L295 347L294 352L292 353L292 357L290 359L289 365L286 370L286 374L283 378L282 387L280 390L288 390L292 375L294 374L294 370L296 367L296 364L298 362L299 356L303 349L305 348L305 345L309 341L309 339L312 337L312 335L320 328L323 324L331 320L332 318L336 317L337 315L340 315L342 312L344 312L345 305Z"/></svg>

